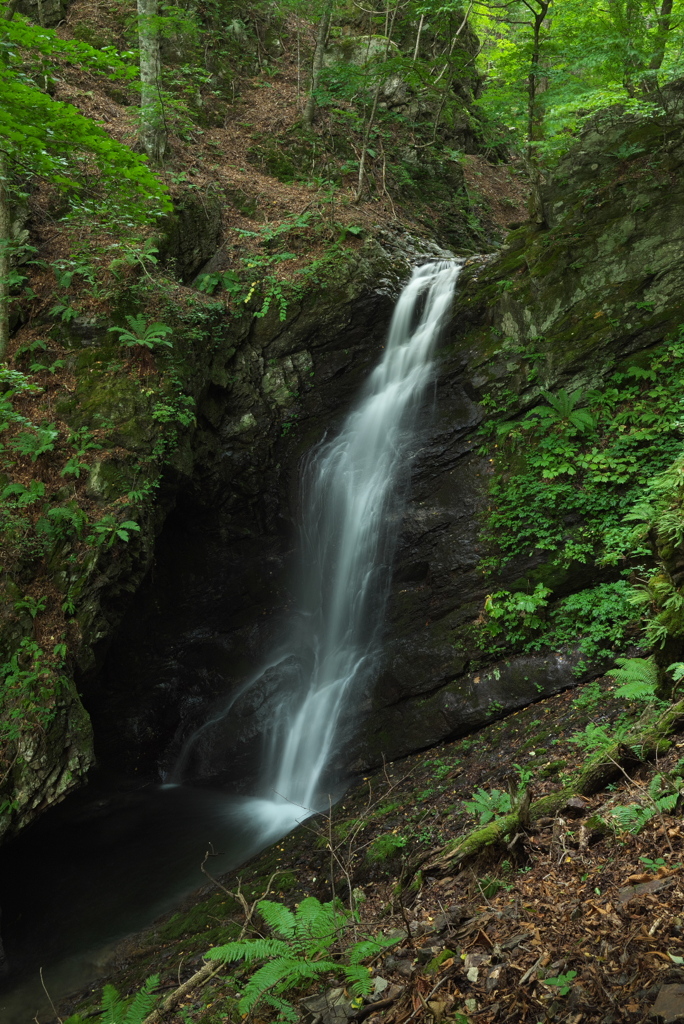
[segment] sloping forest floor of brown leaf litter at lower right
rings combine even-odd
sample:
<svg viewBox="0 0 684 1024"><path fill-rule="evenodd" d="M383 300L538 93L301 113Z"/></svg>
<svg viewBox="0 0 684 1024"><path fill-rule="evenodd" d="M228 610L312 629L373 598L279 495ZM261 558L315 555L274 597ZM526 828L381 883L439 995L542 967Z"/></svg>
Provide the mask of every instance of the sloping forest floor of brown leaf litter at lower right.
<svg viewBox="0 0 684 1024"><path fill-rule="evenodd" d="M603 696L593 707L583 697L587 688L579 687L359 780L331 818L309 819L236 874L200 890L177 913L124 942L106 980L126 992L160 973L165 994L185 981L201 968L207 948L229 938L225 931L221 938L221 927L234 927L236 903L226 890L238 889L248 903L267 894L290 906L306 896L347 901L353 893L361 932L394 936L396 945L373 964L377 1009L371 1001L354 1011L331 978L330 1006L324 999L313 1007L323 1007L320 1024L680 1019L681 799L679 813L649 811L649 784L657 775L682 785L681 735L665 744L657 763L617 773L606 791L570 800L560 815L533 821L507 846L490 848L453 873L430 866L444 844L477 824L464 803L476 791L502 800L522 779L537 799L584 762L571 737L588 723L609 729L626 713L626 702L610 696L610 681L601 686ZM611 808L628 805L641 807L648 818L638 834L622 830L611 817ZM606 824L611 820L613 827ZM325 979L313 993L322 996L323 986ZM69 1000L63 1016L83 1008L84 999L92 1007L98 989ZM239 1020L234 991L234 980L218 975L190 990L164 1020ZM292 1000L298 1005L310 994L300 989ZM307 1013L311 1024L318 1020L310 1004ZM265 1008L253 1019L283 1018Z"/></svg>

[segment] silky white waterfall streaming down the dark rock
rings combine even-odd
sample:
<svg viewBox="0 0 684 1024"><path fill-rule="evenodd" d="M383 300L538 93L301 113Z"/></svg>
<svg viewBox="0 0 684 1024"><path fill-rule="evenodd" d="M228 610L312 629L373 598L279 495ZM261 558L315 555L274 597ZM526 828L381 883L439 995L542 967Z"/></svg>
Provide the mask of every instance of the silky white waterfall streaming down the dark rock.
<svg viewBox="0 0 684 1024"><path fill-rule="evenodd" d="M328 807L332 762L378 673L391 563L410 449L432 352L461 265L416 268L397 301L385 352L339 434L308 456L301 482L298 611L284 644L185 744L182 778L200 736L246 689L276 696L263 736L260 835L275 838Z"/></svg>

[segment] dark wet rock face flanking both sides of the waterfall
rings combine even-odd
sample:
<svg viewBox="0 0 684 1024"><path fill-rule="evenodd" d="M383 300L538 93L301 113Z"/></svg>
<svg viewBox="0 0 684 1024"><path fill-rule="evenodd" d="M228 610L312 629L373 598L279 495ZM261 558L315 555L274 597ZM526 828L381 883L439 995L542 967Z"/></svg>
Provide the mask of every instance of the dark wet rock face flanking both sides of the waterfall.
<svg viewBox="0 0 684 1024"><path fill-rule="evenodd" d="M576 682L570 653L497 665L478 649L472 624L485 595L524 588L543 562L521 554L496 577L479 572L489 456L478 427L504 395L500 415L511 417L539 400L540 387L600 384L619 358L684 321L680 129L642 125L640 141L636 130L619 118L592 128L543 188L546 219L512 234L497 259L464 270L415 445L385 662L375 694L357 709L366 715L358 765L477 728ZM253 322L230 360L215 361L157 565L103 672L89 679L104 760L171 764L183 737L276 645L300 462L337 428L380 355L408 275L405 249L388 256L390 243L384 255L361 255L351 276L286 324ZM539 352L536 381L521 364L525 346ZM557 596L601 582L584 565L556 575L547 579ZM267 689L245 703L243 725L231 724L240 771L267 716ZM116 743L106 729L113 710ZM209 763L202 770L213 771Z"/></svg>

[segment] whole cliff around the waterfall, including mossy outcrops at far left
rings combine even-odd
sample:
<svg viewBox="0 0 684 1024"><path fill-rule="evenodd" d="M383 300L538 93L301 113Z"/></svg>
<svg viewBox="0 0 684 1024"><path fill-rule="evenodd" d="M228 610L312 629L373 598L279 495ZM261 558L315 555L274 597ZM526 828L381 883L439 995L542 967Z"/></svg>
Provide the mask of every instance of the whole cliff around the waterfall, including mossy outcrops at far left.
<svg viewBox="0 0 684 1024"><path fill-rule="evenodd" d="M486 522L503 499L493 501L489 488L494 481L501 494L524 457L500 443L496 427L515 425L543 392L600 390L628 357L643 362L676 332L684 294L677 97L673 90L660 119L597 121L542 188L538 221L463 271L416 444L385 667L361 709L358 764L476 728L605 664L605 650L587 658L567 632L491 643L482 630L484 599L502 589L543 584L553 617L568 596L616 578L614 564L597 566L586 552L560 558L522 546L500 557L502 539ZM325 290L305 291L285 322L273 308L227 323L211 313L185 334L177 327L180 384L197 400L197 419L177 418L162 468L148 462L162 432L159 396L130 382L113 387L101 371L104 326L65 329L78 378L65 418L78 428L98 411L118 425L116 454L91 474L93 501L145 480L156 488L131 543L97 548L80 574L55 563L76 601L76 678L102 763L171 764L182 737L276 639L300 461L335 429L377 361L410 263L437 254L381 232ZM559 522L563 515L558 509ZM570 522L573 530L582 526ZM241 707L236 765L249 761L268 696L266 685ZM37 742L5 780L19 794L7 827L58 799L92 762L92 732L71 683Z"/></svg>

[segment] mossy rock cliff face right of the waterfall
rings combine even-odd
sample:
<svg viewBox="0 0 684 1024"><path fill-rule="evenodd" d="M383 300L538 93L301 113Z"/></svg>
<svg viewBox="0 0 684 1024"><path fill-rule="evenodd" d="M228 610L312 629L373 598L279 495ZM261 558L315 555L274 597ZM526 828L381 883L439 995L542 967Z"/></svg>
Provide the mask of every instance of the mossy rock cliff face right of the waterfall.
<svg viewBox="0 0 684 1024"><path fill-rule="evenodd" d="M495 428L497 421L519 420L544 402L542 389L580 389L591 409L598 400L592 389L605 394L614 387L616 370L637 365L646 368L644 376L658 376L647 369L648 359L664 339L677 336L684 318L677 88L669 101L669 113L651 121L619 112L597 119L542 187L538 222L513 232L505 252L484 267L464 271L441 351L435 415L414 471L387 668L364 737L376 757L391 759L459 735L606 664L595 658L578 675L581 652L572 643L523 653L513 639L503 659L486 644L482 649L482 631L473 624L482 617L486 595L502 588L531 593L543 583L557 600L614 581L617 570L614 562L600 567L593 557L559 560L543 550L520 550L487 575L478 569L500 547L490 532L481 539L487 509L502 500L489 494L490 483L498 482L501 496L502 481L505 489L525 471L526 443L522 454L518 446L502 455L501 431L480 425L493 417ZM662 410L655 391L645 394L630 400L650 401L652 422L660 417L662 439L657 430L649 438L657 451L671 443L674 410ZM601 443L605 439L599 454ZM628 476L616 502L631 485ZM609 477L606 470L606 488ZM581 473L575 484L587 486ZM562 525L569 511L551 515ZM563 528L568 537L578 529L571 522ZM671 653L674 660L677 651Z"/></svg>

